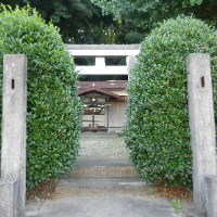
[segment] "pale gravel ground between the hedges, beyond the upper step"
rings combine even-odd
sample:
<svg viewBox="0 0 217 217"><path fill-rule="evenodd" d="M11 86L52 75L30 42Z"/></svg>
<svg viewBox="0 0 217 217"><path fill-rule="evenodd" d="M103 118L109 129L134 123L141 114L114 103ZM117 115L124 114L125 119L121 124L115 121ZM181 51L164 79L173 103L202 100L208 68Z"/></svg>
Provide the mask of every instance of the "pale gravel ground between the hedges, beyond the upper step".
<svg viewBox="0 0 217 217"><path fill-rule="evenodd" d="M128 157L122 137L81 137L80 157Z"/></svg>

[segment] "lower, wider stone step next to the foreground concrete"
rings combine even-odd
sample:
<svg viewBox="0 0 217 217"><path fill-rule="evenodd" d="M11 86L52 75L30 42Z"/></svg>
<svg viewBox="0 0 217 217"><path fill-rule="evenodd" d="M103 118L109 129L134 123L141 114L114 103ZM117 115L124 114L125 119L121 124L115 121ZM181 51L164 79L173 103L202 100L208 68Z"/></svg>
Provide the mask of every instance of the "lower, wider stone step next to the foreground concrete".
<svg viewBox="0 0 217 217"><path fill-rule="evenodd" d="M61 179L55 192L64 195L148 195L156 186L146 184L139 177Z"/></svg>

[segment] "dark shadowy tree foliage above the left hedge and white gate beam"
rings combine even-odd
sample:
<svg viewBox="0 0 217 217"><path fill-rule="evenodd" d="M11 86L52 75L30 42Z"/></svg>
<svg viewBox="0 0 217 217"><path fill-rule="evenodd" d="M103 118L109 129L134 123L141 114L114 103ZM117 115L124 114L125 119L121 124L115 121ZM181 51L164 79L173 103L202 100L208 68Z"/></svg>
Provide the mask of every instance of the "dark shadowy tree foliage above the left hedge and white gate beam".
<svg viewBox="0 0 217 217"><path fill-rule="evenodd" d="M67 43L116 43L118 22L102 16L101 9L90 0L2 0L12 8L29 4L41 17L60 28Z"/></svg>

